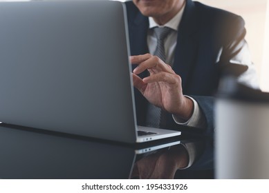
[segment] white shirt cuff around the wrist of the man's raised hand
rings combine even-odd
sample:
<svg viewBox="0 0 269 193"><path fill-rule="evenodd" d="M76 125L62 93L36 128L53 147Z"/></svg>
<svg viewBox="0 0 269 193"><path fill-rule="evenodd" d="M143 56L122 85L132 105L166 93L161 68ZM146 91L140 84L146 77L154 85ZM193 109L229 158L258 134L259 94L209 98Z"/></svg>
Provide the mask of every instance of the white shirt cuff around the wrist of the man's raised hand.
<svg viewBox="0 0 269 193"><path fill-rule="evenodd" d="M186 96L186 97L191 99L192 102L194 103L194 112L192 113L192 116L188 121L180 119L179 117L176 117L173 114L172 116L173 116L174 121L178 125L187 125L187 126L195 127L195 128L206 128L205 116L203 115L203 112L201 111L198 103L192 97L190 96Z"/></svg>

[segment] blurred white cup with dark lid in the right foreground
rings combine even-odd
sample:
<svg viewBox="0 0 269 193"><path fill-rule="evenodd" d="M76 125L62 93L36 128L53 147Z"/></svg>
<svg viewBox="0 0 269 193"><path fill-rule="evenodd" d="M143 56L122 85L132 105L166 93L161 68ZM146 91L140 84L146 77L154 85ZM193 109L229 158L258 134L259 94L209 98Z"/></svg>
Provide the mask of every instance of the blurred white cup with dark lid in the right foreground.
<svg viewBox="0 0 269 193"><path fill-rule="evenodd" d="M269 94L243 85L223 93L215 111L216 178L269 179Z"/></svg>

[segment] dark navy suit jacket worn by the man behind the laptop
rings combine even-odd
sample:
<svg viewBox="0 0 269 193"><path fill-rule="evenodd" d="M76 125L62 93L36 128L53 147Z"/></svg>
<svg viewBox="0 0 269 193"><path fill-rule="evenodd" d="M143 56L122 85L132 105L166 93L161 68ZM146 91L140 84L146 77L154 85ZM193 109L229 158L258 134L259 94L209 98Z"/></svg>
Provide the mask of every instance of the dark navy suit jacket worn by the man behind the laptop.
<svg viewBox="0 0 269 193"><path fill-rule="evenodd" d="M126 6L131 55L148 53L149 20L133 2L127 2ZM254 81L255 72L244 39L244 24L243 19L235 14L186 0L178 27L173 69L182 79L183 94L192 96L205 115L207 128L201 132L204 136L214 136L213 96L221 74L245 76L248 79L242 81ZM138 90L135 96L138 124L145 125L147 100ZM168 119L167 128L182 130L171 116ZM212 148L208 150L211 154Z"/></svg>

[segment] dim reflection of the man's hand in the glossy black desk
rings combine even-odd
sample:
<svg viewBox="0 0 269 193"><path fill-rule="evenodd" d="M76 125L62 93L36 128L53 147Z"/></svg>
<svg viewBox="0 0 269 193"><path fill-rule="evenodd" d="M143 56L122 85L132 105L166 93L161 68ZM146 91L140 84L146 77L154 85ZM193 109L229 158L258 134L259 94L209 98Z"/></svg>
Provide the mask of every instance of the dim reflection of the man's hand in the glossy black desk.
<svg viewBox="0 0 269 193"><path fill-rule="evenodd" d="M189 155L183 145L176 145L169 150L150 154L140 159L133 166L131 178L174 179L176 170L187 167Z"/></svg>

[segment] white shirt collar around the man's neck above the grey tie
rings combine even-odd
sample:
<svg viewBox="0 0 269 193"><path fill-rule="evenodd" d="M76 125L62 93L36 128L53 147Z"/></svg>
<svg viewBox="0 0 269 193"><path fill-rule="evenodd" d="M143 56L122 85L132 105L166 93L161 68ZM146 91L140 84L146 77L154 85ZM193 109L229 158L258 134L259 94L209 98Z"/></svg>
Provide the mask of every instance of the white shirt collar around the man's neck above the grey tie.
<svg viewBox="0 0 269 193"><path fill-rule="evenodd" d="M183 8L181 8L181 10L172 19L170 19L170 21L165 23L164 26L159 26L158 23L156 23L152 17L149 17L149 29L155 28L155 27L168 27L168 28L171 28L171 29L177 31L179 23L180 23L182 16L183 16L185 4L186 3L184 3Z"/></svg>

